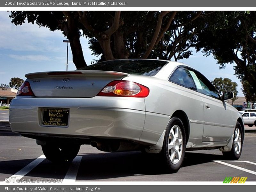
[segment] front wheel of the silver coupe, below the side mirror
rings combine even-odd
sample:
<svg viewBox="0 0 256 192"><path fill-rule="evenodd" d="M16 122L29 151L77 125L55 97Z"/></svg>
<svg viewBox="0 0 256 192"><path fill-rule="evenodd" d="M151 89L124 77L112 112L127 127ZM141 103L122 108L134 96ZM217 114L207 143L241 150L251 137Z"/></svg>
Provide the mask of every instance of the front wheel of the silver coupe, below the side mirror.
<svg viewBox="0 0 256 192"><path fill-rule="evenodd" d="M236 128L234 132L234 139L231 151L222 152L225 159L228 160L237 160L241 156L243 149L243 130L239 122L236 122Z"/></svg>

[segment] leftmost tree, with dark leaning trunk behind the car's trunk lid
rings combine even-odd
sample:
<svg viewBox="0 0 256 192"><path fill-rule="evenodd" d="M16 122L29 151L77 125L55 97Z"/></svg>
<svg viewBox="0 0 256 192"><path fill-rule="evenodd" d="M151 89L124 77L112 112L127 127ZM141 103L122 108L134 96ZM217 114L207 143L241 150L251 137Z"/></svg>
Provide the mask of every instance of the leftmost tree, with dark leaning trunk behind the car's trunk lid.
<svg viewBox="0 0 256 192"><path fill-rule="evenodd" d="M12 23L22 25L26 19L28 23L47 27L50 31L61 30L70 42L73 62L76 68L86 66L80 43L80 23L76 11L11 11L9 16Z"/></svg>

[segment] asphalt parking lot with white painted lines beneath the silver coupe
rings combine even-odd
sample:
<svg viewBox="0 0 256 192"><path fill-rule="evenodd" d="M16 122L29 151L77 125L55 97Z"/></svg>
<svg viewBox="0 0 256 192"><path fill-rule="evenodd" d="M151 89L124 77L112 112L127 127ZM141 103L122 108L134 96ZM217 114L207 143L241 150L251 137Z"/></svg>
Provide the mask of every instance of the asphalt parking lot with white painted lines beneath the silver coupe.
<svg viewBox="0 0 256 192"><path fill-rule="evenodd" d="M256 134L250 133L239 161L225 161L218 149L192 151L173 174L162 169L157 156L139 151L104 153L89 145L81 147L72 164L52 164L35 140L0 131L0 181L223 181L226 177L256 181L255 153Z"/></svg>

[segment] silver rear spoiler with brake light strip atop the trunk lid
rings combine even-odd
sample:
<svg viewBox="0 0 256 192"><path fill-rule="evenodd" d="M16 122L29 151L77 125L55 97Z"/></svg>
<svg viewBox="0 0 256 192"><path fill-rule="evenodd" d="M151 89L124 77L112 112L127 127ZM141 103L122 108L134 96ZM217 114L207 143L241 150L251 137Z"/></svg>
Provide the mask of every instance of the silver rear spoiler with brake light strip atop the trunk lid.
<svg viewBox="0 0 256 192"><path fill-rule="evenodd" d="M51 77L51 76L129 76L128 73L116 72L116 71L51 71L51 72L38 72L38 73L28 73L25 75L28 79Z"/></svg>

